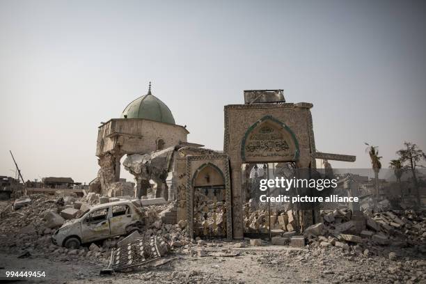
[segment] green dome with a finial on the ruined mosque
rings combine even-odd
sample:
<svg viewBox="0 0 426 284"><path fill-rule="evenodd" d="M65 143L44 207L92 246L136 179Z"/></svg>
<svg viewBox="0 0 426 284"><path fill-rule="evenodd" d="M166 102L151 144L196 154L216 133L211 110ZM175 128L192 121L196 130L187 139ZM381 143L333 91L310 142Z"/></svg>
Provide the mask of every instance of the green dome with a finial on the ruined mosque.
<svg viewBox="0 0 426 284"><path fill-rule="evenodd" d="M125 115L127 118L144 118L159 123L175 124L175 118L170 109L159 98L152 95L151 91L128 104L121 113L121 118L125 118Z"/></svg>

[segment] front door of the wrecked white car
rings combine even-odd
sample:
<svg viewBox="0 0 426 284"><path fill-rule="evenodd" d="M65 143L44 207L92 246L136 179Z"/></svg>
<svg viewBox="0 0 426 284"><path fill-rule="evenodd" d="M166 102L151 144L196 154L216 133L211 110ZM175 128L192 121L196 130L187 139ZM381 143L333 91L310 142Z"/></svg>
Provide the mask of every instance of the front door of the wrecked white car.
<svg viewBox="0 0 426 284"><path fill-rule="evenodd" d="M109 207L90 212L81 223L81 242L105 239L111 235L109 228Z"/></svg>

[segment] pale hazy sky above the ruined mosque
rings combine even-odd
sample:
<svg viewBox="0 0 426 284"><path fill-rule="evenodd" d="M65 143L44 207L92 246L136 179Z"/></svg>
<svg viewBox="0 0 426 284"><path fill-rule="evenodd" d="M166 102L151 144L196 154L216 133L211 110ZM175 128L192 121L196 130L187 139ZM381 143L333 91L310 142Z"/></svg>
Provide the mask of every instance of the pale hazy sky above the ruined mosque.
<svg viewBox="0 0 426 284"><path fill-rule="evenodd" d="M425 1L0 0L0 175L90 182L100 122L152 93L188 140L223 150L243 90L312 102L334 168L426 150ZM130 175L123 173L129 178Z"/></svg>

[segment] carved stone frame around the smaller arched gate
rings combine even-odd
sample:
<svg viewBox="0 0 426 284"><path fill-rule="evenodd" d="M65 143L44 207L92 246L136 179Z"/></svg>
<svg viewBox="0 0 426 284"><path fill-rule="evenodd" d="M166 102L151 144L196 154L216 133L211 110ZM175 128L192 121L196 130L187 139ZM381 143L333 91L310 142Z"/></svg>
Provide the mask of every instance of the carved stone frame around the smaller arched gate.
<svg viewBox="0 0 426 284"><path fill-rule="evenodd" d="M187 156L187 221L189 236L194 238L194 182L197 175L211 166L221 175L225 187L226 238L232 239L232 207L228 155Z"/></svg>

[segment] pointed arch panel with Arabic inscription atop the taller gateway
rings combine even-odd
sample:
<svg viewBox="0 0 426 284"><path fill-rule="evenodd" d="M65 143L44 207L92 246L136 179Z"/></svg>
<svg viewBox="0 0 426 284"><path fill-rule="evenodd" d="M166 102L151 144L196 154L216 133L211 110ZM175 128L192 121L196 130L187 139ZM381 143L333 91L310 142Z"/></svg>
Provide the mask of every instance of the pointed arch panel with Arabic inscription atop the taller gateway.
<svg viewBox="0 0 426 284"><path fill-rule="evenodd" d="M248 127L241 143L243 163L298 161L299 155L294 132L273 116L264 116Z"/></svg>

